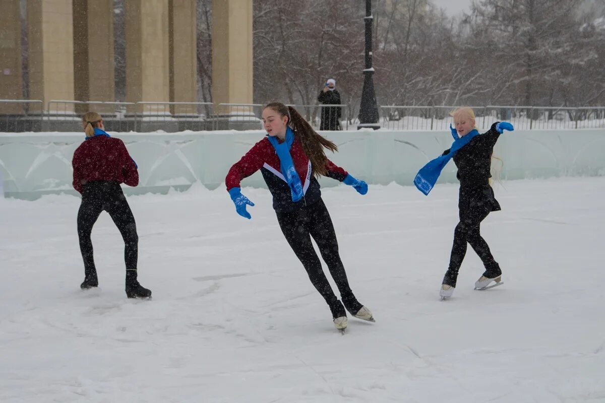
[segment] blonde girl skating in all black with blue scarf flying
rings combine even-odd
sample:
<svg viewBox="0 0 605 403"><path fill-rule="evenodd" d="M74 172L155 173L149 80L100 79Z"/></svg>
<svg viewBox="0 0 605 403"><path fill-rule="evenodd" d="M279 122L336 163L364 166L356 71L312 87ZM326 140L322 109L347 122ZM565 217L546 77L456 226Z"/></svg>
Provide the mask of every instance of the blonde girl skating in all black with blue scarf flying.
<svg viewBox="0 0 605 403"><path fill-rule="evenodd" d="M420 169L414 179L416 187L428 195L450 158L454 159L458 168L456 176L460 181L458 201L460 222L454 230L450 266L445 272L439 291L442 299L451 297L456 288L458 271L466 254L466 243L471 245L485 266L485 272L475 282L475 288L485 289L492 282L499 285L502 281L502 270L480 234L480 224L489 213L500 210L500 204L494 197L494 190L489 185L494 144L503 131L514 130L511 123L496 122L492 124L489 131L479 134L475 126L473 109L459 108L451 115L456 126L453 128L450 125L454 137L451 149L445 150L441 156Z"/></svg>

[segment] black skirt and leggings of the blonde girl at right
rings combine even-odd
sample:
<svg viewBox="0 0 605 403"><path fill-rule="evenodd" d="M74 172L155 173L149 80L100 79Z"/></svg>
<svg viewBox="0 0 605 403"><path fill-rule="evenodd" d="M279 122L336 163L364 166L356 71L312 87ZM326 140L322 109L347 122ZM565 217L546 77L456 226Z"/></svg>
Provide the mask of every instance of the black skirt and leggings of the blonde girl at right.
<svg viewBox="0 0 605 403"><path fill-rule="evenodd" d="M467 242L479 255L486 271L499 270L498 263L494 261L488 244L480 233L481 222L492 211L500 210L500 205L494 198L494 191L489 186L472 190L461 188L458 207L460 222L454 230L454 244L448 270L459 271L466 255Z"/></svg>

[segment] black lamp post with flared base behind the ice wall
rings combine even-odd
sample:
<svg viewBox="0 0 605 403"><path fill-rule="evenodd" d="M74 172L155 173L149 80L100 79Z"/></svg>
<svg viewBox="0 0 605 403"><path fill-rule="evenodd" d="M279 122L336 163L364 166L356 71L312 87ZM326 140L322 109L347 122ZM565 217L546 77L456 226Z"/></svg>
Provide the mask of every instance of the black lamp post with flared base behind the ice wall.
<svg viewBox="0 0 605 403"><path fill-rule="evenodd" d="M374 68L372 67L372 1L365 0L365 69L364 88L361 91L361 104L359 105L359 125L378 129L378 105L376 104L376 92L374 92Z"/></svg>

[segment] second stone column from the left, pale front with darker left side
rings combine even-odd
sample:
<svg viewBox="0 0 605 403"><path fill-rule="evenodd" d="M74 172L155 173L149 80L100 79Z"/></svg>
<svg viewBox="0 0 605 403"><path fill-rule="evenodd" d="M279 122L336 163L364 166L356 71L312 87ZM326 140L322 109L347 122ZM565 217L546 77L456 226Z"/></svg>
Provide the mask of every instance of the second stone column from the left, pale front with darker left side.
<svg viewBox="0 0 605 403"><path fill-rule="evenodd" d="M74 99L72 0L27 1L30 98ZM73 112L73 105L51 105L50 112Z"/></svg>

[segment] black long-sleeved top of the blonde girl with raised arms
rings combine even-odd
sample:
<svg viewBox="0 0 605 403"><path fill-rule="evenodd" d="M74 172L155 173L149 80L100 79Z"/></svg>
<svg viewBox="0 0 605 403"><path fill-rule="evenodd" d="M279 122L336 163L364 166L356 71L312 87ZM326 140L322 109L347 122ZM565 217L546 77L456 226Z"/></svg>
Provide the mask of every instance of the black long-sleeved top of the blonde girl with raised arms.
<svg viewBox="0 0 605 403"><path fill-rule="evenodd" d="M474 208L475 205L491 205L491 211L500 210L500 204L494 197L494 190L489 185L491 178L491 156L495 142L500 133L495 129L498 122L484 134L475 136L466 146L454 155L458 168L456 177L460 181L459 208L461 214ZM443 155L449 153L445 150Z"/></svg>

